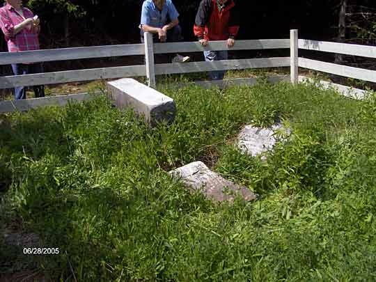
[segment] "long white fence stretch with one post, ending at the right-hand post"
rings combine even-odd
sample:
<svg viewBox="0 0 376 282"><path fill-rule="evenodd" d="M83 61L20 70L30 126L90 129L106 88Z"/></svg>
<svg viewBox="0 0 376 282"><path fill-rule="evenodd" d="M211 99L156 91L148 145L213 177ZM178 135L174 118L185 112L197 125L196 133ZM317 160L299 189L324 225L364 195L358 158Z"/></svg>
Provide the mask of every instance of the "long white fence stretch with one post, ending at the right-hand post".
<svg viewBox="0 0 376 282"><path fill-rule="evenodd" d="M109 45L95 47L76 47L63 49L45 49L37 51L0 53L0 64L36 63L46 61L65 61L81 58L104 58L111 56L145 55L146 65L132 65L116 68L95 68L86 70L69 70L47 72L33 75L0 77L0 88L15 86L33 86L40 84L58 84L95 79L116 79L120 77L148 77L149 86L155 86L155 75L168 75L187 72L205 72L208 70L241 70L245 68L272 68L290 66L290 58L251 58L243 60L226 60L217 62L194 63L154 63L155 54L202 52L204 50L226 50L226 41L210 42L203 47L199 42L152 43L152 35L145 34L145 45ZM237 40L232 50L279 49L290 48L290 40Z"/></svg>

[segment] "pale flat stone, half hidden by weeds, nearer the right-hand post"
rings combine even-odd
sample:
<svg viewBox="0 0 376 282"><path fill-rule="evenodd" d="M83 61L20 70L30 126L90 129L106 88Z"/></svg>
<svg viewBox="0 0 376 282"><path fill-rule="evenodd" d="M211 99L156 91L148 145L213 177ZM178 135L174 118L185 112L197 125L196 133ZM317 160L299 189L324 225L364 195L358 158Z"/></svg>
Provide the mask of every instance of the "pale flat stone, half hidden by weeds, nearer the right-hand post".
<svg viewBox="0 0 376 282"><path fill-rule="evenodd" d="M276 138L276 132L279 130L285 130L286 134L290 134L290 131L286 130L281 123L267 128L246 125L237 138L238 146L244 154L256 157L267 150L272 150L279 141Z"/></svg>

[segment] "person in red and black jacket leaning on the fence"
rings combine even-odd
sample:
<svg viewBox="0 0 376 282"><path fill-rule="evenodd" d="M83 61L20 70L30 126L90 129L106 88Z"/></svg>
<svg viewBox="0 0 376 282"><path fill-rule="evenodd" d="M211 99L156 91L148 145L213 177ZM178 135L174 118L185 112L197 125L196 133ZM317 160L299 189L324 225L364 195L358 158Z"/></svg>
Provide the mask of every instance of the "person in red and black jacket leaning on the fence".
<svg viewBox="0 0 376 282"><path fill-rule="evenodd" d="M194 24L194 35L201 45L210 40L226 40L233 47L240 27L240 13L234 0L202 0ZM227 51L204 51L205 61L227 60ZM210 79L224 79L224 71L209 72Z"/></svg>

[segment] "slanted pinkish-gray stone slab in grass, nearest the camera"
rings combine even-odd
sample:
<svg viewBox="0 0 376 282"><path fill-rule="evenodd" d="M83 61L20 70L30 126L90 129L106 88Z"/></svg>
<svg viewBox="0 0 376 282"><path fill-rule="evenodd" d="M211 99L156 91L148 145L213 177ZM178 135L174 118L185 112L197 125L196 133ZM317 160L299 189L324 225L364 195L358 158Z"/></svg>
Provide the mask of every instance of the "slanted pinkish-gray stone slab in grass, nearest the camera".
<svg viewBox="0 0 376 282"><path fill-rule="evenodd" d="M253 201L257 198L257 195L246 187L236 185L222 178L218 173L210 171L203 162L192 162L170 171L169 174L184 182L189 189L201 190L207 198L214 201L233 202L237 195L244 198L245 201Z"/></svg>

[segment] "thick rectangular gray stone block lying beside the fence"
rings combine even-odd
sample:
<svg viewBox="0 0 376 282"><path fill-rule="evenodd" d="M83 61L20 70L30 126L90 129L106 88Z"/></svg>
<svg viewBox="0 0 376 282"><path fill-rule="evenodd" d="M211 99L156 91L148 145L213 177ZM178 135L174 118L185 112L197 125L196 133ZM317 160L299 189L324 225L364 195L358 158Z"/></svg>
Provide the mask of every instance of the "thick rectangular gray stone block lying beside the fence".
<svg viewBox="0 0 376 282"><path fill-rule="evenodd" d="M170 97L134 79L107 82L107 91L116 107L133 108L152 126L162 120L171 123L175 118L175 102Z"/></svg>

